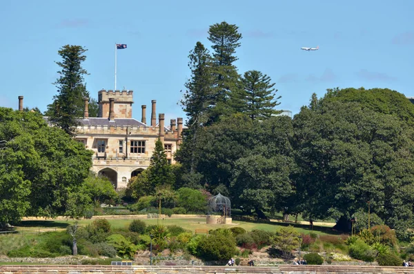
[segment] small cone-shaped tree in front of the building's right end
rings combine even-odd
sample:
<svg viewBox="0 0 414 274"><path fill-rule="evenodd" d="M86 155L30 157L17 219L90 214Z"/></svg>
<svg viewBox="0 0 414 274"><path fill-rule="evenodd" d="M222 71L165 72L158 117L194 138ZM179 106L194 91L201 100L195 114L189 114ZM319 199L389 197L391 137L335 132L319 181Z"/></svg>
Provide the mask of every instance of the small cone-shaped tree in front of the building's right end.
<svg viewBox="0 0 414 274"><path fill-rule="evenodd" d="M148 181L153 188L174 184L171 165L168 164L164 146L159 139L155 142L155 150L152 153L150 166L147 170Z"/></svg>

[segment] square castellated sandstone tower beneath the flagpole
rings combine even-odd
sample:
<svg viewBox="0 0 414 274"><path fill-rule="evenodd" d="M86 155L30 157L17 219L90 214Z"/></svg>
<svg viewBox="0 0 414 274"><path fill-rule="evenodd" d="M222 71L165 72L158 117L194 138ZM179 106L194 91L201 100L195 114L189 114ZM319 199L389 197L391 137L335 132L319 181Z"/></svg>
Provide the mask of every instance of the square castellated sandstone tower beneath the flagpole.
<svg viewBox="0 0 414 274"><path fill-rule="evenodd" d="M132 90L99 90L98 104L99 115L101 118L110 116L110 99L113 100L114 118L132 118Z"/></svg>

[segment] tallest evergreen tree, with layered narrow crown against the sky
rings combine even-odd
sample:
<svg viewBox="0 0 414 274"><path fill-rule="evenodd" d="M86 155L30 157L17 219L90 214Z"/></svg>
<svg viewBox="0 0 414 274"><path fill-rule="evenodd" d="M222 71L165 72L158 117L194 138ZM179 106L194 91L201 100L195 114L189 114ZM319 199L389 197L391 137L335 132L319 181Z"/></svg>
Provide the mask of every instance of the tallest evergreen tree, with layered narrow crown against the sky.
<svg viewBox="0 0 414 274"><path fill-rule="evenodd" d="M221 115L228 115L233 112L228 104L229 94L237 92L239 86L239 75L234 62L236 48L240 46L239 40L242 34L238 32L236 25L230 25L223 21L210 26L208 40L213 43L213 104L210 110L210 121L212 124L219 120Z"/></svg>

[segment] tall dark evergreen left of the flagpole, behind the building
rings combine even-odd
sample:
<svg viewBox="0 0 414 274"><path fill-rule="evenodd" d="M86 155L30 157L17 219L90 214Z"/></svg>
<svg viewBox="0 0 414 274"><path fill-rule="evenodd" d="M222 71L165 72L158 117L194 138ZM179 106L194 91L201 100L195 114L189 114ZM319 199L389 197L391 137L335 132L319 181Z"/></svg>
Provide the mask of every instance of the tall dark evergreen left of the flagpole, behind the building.
<svg viewBox="0 0 414 274"><path fill-rule="evenodd" d="M52 123L71 135L74 127L79 124L77 118L83 116L83 98L89 97L83 83L83 75L88 75L88 72L81 66L86 60L86 51L82 46L71 45L63 46L59 50L62 61L56 63L61 67L57 72L60 77L53 83L57 86L59 94L53 97L54 101L48 105L46 112Z"/></svg>

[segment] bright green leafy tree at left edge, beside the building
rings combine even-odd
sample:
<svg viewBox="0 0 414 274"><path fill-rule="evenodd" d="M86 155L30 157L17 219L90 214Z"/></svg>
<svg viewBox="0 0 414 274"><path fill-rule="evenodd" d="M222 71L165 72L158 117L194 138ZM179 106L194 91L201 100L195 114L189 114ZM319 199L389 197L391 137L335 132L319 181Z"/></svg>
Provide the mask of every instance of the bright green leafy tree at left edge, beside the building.
<svg viewBox="0 0 414 274"><path fill-rule="evenodd" d="M55 216L92 166L92 153L38 112L0 108L0 223Z"/></svg>

